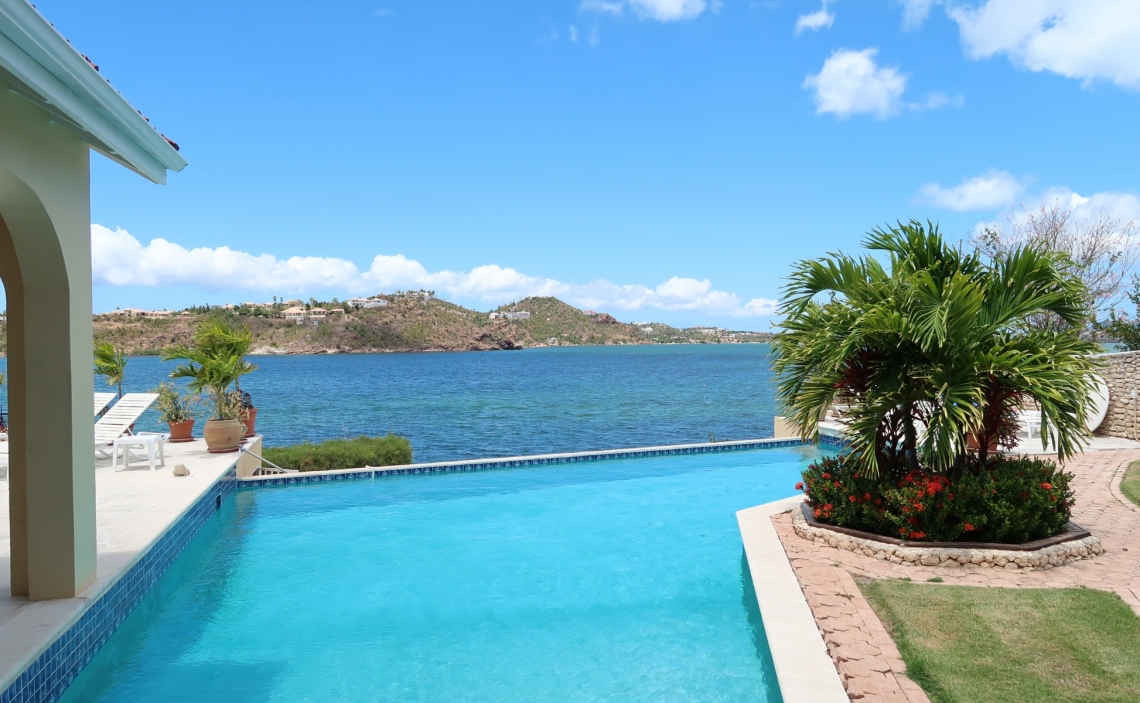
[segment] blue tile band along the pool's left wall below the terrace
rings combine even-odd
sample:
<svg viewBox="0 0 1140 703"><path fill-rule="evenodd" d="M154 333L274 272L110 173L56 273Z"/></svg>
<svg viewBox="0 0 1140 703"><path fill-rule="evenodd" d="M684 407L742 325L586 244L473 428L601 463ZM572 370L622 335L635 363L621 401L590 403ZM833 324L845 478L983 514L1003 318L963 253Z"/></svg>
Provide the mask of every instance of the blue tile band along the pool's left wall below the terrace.
<svg viewBox="0 0 1140 703"><path fill-rule="evenodd" d="M236 489L237 467L234 466L0 693L0 703L52 703L59 700Z"/></svg>

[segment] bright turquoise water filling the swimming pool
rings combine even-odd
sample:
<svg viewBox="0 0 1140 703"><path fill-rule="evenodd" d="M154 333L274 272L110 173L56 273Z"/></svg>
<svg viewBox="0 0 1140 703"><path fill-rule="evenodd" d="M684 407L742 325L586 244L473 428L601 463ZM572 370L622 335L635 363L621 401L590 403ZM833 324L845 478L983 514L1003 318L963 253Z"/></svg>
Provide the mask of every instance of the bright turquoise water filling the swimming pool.
<svg viewBox="0 0 1140 703"><path fill-rule="evenodd" d="M64 701L780 701L735 512L816 456L242 490Z"/></svg>

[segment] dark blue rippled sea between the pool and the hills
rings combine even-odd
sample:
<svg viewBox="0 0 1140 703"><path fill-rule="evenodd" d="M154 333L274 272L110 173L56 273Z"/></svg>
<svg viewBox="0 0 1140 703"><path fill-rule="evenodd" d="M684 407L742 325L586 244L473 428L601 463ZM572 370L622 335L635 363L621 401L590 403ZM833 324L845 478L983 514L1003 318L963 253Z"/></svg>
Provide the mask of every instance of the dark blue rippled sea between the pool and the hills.
<svg viewBox="0 0 1140 703"><path fill-rule="evenodd" d="M251 360L242 387L268 445L393 432L416 461L765 438L776 414L767 344ZM132 358L125 389L174 366ZM156 414L139 428L160 430Z"/></svg>

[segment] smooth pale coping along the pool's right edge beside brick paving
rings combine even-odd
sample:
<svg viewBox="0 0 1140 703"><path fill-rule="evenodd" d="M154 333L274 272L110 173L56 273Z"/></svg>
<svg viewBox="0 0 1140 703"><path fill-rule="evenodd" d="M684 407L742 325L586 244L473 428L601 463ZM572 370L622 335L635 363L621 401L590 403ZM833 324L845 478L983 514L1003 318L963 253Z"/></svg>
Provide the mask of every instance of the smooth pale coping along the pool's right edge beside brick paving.
<svg viewBox="0 0 1140 703"><path fill-rule="evenodd" d="M848 703L839 671L784 553L772 516L795 510L803 496L736 513L748 571L784 703Z"/></svg>

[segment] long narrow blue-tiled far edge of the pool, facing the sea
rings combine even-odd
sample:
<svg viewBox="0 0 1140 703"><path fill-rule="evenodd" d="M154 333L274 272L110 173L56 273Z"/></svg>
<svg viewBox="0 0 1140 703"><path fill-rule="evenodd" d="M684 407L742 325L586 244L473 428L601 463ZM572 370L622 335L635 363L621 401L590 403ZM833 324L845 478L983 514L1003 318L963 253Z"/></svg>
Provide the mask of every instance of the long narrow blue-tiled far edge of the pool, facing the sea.
<svg viewBox="0 0 1140 703"><path fill-rule="evenodd" d="M841 438L820 435L821 445L842 448L847 441ZM299 483L325 483L332 481L356 481L376 476L406 476L412 474L438 474L453 472L479 472L498 468L522 468L527 466L549 466L554 464L575 464L578 461L606 461L613 459L641 459L646 457L668 457L693 453L718 453L725 451L750 451L754 449L777 449L781 447L811 445L799 439L746 440L738 442L717 442L708 444L682 444L675 447L653 447L649 449L614 449L610 451L586 451L565 455L538 455L532 457L511 457L506 459L472 459L467 461L440 461L435 464L412 464L396 467L366 467L336 472L302 472L298 474L277 474L270 476L252 476L239 481L243 488L261 488L271 485L292 485ZM3 701L0 701L3 703Z"/></svg>

